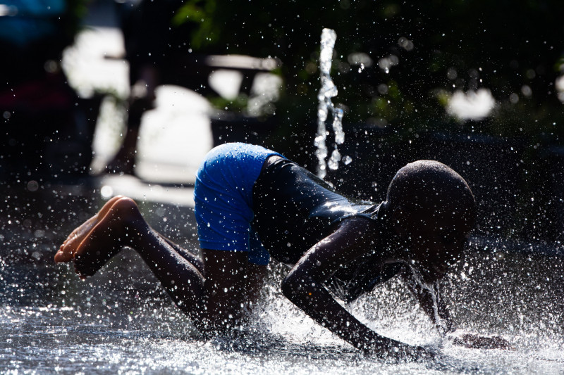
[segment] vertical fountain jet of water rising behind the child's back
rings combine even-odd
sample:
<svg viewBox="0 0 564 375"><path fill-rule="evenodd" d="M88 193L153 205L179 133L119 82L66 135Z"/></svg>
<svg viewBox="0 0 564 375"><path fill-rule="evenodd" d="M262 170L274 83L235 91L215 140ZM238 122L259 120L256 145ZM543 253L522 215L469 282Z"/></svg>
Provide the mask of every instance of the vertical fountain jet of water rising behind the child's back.
<svg viewBox="0 0 564 375"><path fill-rule="evenodd" d="M341 161L341 153L338 151L338 145L345 141L345 132L343 132L343 110L336 108L331 102L333 96L337 96L337 87L331 80L331 63L333 60L333 47L337 34L331 29L323 29L321 32L321 53L319 55L319 68L321 70L321 89L317 98L319 106L317 107L317 135L315 136L314 145L317 147L315 155L317 156L317 175L324 178L327 174L327 167L330 170L336 170ZM335 149L331 153L331 158L326 162L329 151L326 146L327 132L325 122L329 117L333 117L332 127L335 133ZM345 156L345 164L350 163L350 157Z"/></svg>

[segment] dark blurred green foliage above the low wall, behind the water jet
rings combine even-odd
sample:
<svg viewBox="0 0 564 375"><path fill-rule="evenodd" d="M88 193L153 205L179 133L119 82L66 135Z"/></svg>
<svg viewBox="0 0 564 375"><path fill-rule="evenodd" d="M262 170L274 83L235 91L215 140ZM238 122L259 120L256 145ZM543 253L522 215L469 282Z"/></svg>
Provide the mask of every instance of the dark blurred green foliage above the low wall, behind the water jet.
<svg viewBox="0 0 564 375"><path fill-rule="evenodd" d="M398 130L562 136L561 0L188 0L174 23L195 23L195 51L282 62L282 124L313 122L319 39L336 31L332 77L345 122ZM360 65L364 63L364 65ZM455 90L486 88L491 116L462 122L445 110Z"/></svg>

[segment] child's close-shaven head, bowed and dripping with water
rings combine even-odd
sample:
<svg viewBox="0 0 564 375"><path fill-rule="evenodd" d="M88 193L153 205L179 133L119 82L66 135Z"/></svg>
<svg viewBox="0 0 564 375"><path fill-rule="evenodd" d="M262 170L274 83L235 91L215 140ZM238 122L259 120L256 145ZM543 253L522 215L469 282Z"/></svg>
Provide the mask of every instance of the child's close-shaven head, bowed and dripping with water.
<svg viewBox="0 0 564 375"><path fill-rule="evenodd" d="M476 217L465 179L434 160L401 168L388 186L387 207L407 258L425 281L441 277L460 257Z"/></svg>

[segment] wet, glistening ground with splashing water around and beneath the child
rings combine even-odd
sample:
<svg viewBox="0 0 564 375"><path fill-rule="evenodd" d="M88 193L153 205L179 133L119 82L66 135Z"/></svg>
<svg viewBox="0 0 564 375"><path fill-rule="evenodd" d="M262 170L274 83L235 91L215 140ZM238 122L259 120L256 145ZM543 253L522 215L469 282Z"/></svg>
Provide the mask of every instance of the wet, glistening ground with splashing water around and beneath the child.
<svg viewBox="0 0 564 375"><path fill-rule="evenodd" d="M95 184L1 187L1 373L562 374L561 255L471 247L444 281L461 329L502 335L513 351L442 342L403 284L392 280L350 309L388 336L441 346L441 355L430 362L362 355L280 295L278 266L248 333L204 341L133 250L87 281L68 265L54 265L66 234L104 203ZM151 202L140 208L155 229L196 246L191 208Z"/></svg>

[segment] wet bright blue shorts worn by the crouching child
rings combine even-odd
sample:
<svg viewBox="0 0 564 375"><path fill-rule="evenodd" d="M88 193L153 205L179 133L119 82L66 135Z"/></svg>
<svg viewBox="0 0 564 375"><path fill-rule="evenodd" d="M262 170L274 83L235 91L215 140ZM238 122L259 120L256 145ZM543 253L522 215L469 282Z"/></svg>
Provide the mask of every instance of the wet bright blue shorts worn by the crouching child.
<svg viewBox="0 0 564 375"><path fill-rule="evenodd" d="M280 154L240 143L222 144L207 153L196 174L194 189L201 248L248 251L249 262L268 264L270 255L250 222L255 216L252 188L271 155Z"/></svg>

